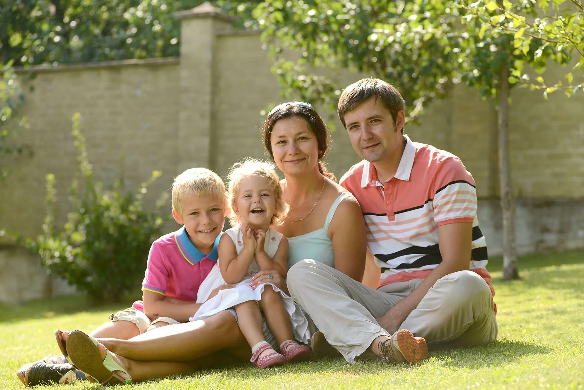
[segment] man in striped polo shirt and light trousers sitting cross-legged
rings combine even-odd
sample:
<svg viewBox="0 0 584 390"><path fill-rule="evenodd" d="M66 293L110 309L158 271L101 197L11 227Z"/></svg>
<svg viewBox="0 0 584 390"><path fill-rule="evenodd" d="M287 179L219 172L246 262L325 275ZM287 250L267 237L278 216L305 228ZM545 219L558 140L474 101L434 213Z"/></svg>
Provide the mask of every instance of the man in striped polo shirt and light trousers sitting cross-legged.
<svg viewBox="0 0 584 390"><path fill-rule="evenodd" d="M323 335L349 363L364 353L416 363L427 357L426 343L496 339L474 179L457 156L404 135L404 109L397 89L379 79L361 79L340 96L340 120L363 158L340 184L363 209L363 281L378 287L312 260L291 267L288 289L322 332L312 340L317 356Z"/></svg>

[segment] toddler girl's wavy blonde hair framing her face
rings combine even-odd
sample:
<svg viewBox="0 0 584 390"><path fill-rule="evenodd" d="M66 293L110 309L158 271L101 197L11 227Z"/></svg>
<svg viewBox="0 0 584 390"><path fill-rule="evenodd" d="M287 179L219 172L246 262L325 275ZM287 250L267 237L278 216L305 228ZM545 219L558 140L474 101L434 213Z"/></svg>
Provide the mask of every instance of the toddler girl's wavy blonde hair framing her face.
<svg viewBox="0 0 584 390"><path fill-rule="evenodd" d="M288 214L288 205L284 202L284 191L280 187L280 178L274 170L274 165L269 162L246 159L244 162L236 162L229 173L229 196L228 202L230 206L229 222L232 226L240 225L241 218L233 211L237 208L237 197L239 194L239 183L241 179L250 176L266 177L270 181L270 190L274 194L276 200L276 207L274 208L274 215L272 217L272 224L281 224Z"/></svg>

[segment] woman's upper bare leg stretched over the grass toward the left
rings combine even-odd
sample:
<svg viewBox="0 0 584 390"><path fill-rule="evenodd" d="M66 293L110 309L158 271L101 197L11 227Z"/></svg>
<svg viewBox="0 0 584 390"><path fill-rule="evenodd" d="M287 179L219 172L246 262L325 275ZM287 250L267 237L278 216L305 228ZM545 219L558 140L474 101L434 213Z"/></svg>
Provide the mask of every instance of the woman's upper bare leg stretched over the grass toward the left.
<svg viewBox="0 0 584 390"><path fill-rule="evenodd" d="M98 341L117 355L135 360L190 361L223 349L238 357L251 356L235 317L227 311L200 321L162 326L130 340Z"/></svg>

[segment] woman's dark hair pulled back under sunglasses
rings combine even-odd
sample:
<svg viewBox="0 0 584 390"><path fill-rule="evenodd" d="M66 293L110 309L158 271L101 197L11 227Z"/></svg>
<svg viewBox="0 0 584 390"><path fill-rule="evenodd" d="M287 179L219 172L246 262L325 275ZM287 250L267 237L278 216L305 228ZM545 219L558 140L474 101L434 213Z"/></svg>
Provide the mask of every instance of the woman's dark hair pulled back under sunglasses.
<svg viewBox="0 0 584 390"><path fill-rule="evenodd" d="M277 121L284 118L290 118L293 116L299 116L304 118L305 121L308 122L308 126L310 126L312 133L317 137L318 142L318 170L329 179L336 182L336 177L333 175L332 172L329 172L326 169L324 162L321 159L325 156L326 151L329 148L329 131L324 122L322 121L321 117L317 114L317 112L313 109L308 109L306 107L300 106L291 106L287 105L282 107L281 109L277 110L272 115L268 116L265 121L262 123L262 140L263 144L266 147L267 152L274 159L274 154L272 152L272 144L270 142L270 138L272 137L272 130L274 125Z"/></svg>

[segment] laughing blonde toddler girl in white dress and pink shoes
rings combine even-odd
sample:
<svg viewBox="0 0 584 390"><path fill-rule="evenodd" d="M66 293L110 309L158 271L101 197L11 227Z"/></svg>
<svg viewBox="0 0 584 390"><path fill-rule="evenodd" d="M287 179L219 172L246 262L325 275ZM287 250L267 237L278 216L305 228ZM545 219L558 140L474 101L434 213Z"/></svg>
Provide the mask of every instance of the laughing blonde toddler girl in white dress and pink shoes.
<svg viewBox="0 0 584 390"><path fill-rule="evenodd" d="M255 160L236 163L230 173L229 204L234 227L220 239L218 264L201 283L197 303L205 302L219 285L231 283L235 287L220 290L190 320L235 309L241 333L252 347L251 361L259 368L309 358L310 349L294 341L294 336L304 343L310 337L300 307L276 285L251 287L251 277L260 270L277 270L283 278L287 273L288 240L270 228L286 215L273 166ZM266 342L260 310L282 354Z"/></svg>

